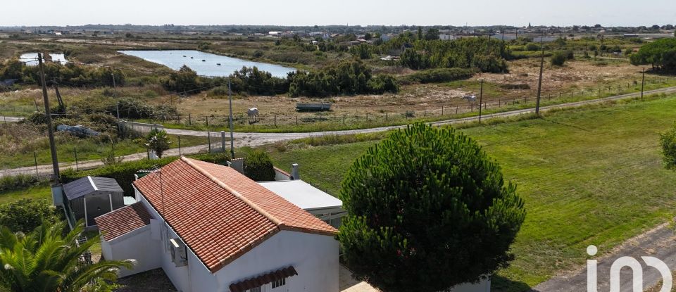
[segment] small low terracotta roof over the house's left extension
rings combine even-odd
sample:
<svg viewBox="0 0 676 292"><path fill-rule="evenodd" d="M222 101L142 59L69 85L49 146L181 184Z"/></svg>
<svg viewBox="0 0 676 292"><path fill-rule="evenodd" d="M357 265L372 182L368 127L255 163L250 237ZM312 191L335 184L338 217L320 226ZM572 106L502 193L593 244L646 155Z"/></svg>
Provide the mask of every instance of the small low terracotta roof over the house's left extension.
<svg viewBox="0 0 676 292"><path fill-rule="evenodd" d="M104 239L110 241L150 224L150 214L142 203L134 203L96 217L94 221Z"/></svg>

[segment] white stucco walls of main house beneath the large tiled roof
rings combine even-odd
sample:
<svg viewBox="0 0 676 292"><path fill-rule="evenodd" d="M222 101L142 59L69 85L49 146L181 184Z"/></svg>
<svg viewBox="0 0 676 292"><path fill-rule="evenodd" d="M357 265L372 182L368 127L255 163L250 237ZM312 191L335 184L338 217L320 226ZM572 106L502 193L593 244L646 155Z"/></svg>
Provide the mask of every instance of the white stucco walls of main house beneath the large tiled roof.
<svg viewBox="0 0 676 292"><path fill-rule="evenodd" d="M146 206L151 217L161 220L159 214L142 196L137 196L137 198ZM161 226L165 226L164 222L161 223ZM168 232L171 238L178 237L170 228L165 229L165 232ZM149 236L152 233L153 231L149 231ZM156 250L158 266L162 267L178 291L228 292L230 291L228 287L234 282L289 266L293 266L298 275L288 278L285 286L275 288L274 291L270 289L270 284L263 287L262 291L339 291L339 250L338 242L333 236L280 231L215 274L211 274L189 248L187 249L188 265L176 267L171 260L170 251L164 246L164 241L152 239L151 241Z"/></svg>

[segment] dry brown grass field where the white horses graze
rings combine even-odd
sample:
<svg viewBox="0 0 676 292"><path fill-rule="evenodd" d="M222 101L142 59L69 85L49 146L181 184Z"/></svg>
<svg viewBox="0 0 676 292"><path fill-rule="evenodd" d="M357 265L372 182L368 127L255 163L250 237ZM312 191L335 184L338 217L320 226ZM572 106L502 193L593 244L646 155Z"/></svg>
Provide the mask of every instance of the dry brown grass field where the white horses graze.
<svg viewBox="0 0 676 292"><path fill-rule="evenodd" d="M629 90L640 82L642 67L630 65L627 61L604 61L608 65L596 65L600 61L571 61L563 67L546 64L543 74L543 96L557 98L559 93L575 96L585 89L588 95ZM533 99L537 96L539 61L525 59L510 62L508 74L480 74L470 80L442 84L416 84L403 87L398 94L337 96L329 99L289 98L287 96L237 96L233 101L235 113L245 113L247 108L256 107L263 115L294 115L296 102L329 101L333 103L335 115L363 113L402 113L406 110L438 110L442 106L452 109L466 107L468 102L462 96L480 94L480 82L484 79L484 102L498 103ZM659 77L646 75L651 80ZM503 89L503 84L527 84L530 89ZM629 87L629 88L628 88ZM166 99L166 98L164 98ZM159 102L157 100L156 102ZM227 96L209 97L199 94L182 101L178 106L182 113L193 115L227 115Z"/></svg>

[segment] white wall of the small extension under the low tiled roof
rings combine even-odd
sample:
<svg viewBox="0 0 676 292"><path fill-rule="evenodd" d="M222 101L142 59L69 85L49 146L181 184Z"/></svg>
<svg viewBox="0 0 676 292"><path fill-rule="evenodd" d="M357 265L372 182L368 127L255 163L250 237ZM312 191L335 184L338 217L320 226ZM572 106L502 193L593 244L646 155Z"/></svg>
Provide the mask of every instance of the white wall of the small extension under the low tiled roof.
<svg viewBox="0 0 676 292"><path fill-rule="evenodd" d="M118 277L126 277L160 267L158 241L150 238L150 225L111 241L102 241L101 253L106 259L136 261L133 269L120 269Z"/></svg>

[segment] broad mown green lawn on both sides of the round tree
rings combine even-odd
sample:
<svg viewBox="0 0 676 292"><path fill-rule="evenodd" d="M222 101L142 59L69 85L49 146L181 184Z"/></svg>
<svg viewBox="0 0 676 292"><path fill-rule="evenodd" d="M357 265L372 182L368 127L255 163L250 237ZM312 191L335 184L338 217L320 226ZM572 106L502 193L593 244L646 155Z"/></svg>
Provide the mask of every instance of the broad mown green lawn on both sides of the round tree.
<svg viewBox="0 0 676 292"><path fill-rule="evenodd" d="M675 215L676 174L663 169L658 146L676 120L672 108L676 96L462 130L501 163L527 207L517 258L494 290L524 291L584 265L589 244L607 253ZM337 195L353 159L373 144L270 149L275 165L299 163L302 179Z"/></svg>

